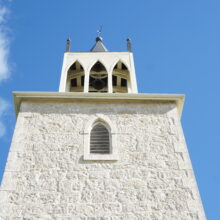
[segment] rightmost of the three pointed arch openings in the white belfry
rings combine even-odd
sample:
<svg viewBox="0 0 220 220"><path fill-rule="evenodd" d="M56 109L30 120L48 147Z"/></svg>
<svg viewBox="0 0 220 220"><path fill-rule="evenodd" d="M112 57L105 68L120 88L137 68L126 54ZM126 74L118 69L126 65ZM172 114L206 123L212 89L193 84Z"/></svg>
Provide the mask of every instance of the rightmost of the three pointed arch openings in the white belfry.
<svg viewBox="0 0 220 220"><path fill-rule="evenodd" d="M127 93L130 83L130 72L126 65L118 61L112 72L112 90L113 93Z"/></svg>

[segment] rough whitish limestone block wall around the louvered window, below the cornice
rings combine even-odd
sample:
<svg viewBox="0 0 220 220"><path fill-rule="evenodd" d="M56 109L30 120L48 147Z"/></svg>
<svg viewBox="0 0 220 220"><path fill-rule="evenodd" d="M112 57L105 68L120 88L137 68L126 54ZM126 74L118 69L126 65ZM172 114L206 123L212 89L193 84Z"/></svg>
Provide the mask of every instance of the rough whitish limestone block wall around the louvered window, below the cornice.
<svg viewBox="0 0 220 220"><path fill-rule="evenodd" d="M117 161L83 160L83 130L117 126ZM23 102L0 220L205 220L175 103Z"/></svg>

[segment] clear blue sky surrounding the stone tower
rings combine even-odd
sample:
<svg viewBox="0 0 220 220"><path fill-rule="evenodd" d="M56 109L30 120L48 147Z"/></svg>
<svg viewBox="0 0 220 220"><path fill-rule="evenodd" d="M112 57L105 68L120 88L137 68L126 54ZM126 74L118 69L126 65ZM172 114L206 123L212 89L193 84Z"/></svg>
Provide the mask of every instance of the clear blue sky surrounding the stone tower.
<svg viewBox="0 0 220 220"><path fill-rule="evenodd" d="M67 37L88 51L132 39L139 92L184 93L182 124L207 219L220 219L220 1L0 0L0 182L12 91L57 91Z"/></svg>

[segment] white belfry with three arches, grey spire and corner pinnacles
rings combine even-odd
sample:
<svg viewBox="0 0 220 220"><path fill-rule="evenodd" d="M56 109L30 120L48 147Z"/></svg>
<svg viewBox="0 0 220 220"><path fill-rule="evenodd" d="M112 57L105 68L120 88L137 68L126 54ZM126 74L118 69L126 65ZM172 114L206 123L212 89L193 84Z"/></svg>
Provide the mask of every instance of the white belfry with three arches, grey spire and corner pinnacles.
<svg viewBox="0 0 220 220"><path fill-rule="evenodd" d="M109 52L100 36L89 52L64 54L60 92L137 93L130 39L127 52Z"/></svg>

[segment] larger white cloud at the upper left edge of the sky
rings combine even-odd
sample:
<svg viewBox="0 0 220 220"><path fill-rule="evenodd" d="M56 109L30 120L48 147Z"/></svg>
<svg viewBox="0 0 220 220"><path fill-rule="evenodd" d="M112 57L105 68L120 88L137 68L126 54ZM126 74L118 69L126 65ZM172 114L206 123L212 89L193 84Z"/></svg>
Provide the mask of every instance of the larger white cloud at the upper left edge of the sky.
<svg viewBox="0 0 220 220"><path fill-rule="evenodd" d="M8 9L0 5L0 82L10 76L8 64L9 40L7 36L6 16Z"/></svg>

